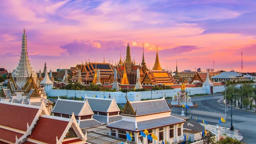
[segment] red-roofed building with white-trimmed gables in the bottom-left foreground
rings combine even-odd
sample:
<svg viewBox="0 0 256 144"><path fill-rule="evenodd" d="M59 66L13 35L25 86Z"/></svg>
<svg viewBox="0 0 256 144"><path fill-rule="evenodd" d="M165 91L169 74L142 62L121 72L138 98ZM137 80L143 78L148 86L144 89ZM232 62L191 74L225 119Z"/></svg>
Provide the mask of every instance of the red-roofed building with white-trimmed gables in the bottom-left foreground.
<svg viewBox="0 0 256 144"><path fill-rule="evenodd" d="M71 118L50 116L46 106L0 101L0 143L86 144L74 114Z"/></svg>

